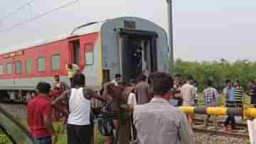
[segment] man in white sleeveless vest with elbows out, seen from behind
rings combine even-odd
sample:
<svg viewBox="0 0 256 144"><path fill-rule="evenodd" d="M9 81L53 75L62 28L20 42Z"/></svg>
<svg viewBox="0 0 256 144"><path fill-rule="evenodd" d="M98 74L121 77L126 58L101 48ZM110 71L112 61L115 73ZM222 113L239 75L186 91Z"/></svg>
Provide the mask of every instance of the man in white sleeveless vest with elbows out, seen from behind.
<svg viewBox="0 0 256 144"><path fill-rule="evenodd" d="M97 96L90 89L85 89L85 75L75 74L73 77L74 87L62 94L55 101L69 99L68 116L68 144L90 144L92 139L92 123L90 123L91 101L90 99L100 99L105 101L102 96Z"/></svg>

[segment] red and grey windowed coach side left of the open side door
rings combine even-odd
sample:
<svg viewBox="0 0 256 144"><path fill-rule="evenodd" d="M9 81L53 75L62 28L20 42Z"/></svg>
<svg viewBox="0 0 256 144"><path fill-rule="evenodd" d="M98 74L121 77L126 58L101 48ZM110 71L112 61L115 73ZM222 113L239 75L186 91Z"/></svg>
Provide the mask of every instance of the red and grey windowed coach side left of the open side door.
<svg viewBox="0 0 256 144"><path fill-rule="evenodd" d="M60 69L52 70L51 57L60 55ZM38 57L46 57L46 70L38 72ZM68 73L65 71L65 63L68 62L68 41L60 40L58 42L46 45L38 45L33 48L23 50L23 55L11 57L3 61L3 63L12 60L12 74L6 72L0 77L0 89L34 89L38 82L52 82L53 75L59 74L63 82L68 82ZM31 60L31 72L26 72L26 60ZM22 62L22 74L16 74L15 63ZM6 70L6 68L4 67Z"/></svg>

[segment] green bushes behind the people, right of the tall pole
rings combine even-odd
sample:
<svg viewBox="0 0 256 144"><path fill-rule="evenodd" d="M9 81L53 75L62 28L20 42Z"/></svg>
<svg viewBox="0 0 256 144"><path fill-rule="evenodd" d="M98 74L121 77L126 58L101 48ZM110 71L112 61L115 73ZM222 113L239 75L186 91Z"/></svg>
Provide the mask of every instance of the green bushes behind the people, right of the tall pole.
<svg viewBox="0 0 256 144"><path fill-rule="evenodd" d="M248 90L250 79L256 78L256 62L248 60L238 60L228 62L227 60L213 62L187 62L176 60L174 73L182 74L184 78L192 75L199 83L202 91L206 87L207 79L213 79L215 87L223 88L225 79L240 79L240 83L245 90Z"/></svg>

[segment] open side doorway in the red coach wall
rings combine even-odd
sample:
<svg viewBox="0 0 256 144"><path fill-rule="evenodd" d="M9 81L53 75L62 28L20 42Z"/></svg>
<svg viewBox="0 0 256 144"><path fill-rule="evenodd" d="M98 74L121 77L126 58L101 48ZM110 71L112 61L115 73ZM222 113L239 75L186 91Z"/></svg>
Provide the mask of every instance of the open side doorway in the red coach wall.
<svg viewBox="0 0 256 144"><path fill-rule="evenodd" d="M80 41L74 40L70 42L71 62L80 65Z"/></svg>

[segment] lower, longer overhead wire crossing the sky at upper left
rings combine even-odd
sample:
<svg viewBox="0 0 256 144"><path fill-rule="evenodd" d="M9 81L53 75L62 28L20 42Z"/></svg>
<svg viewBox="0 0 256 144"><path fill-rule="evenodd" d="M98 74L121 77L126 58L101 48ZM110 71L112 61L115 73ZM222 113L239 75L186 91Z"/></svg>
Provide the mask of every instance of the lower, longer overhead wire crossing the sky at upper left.
<svg viewBox="0 0 256 144"><path fill-rule="evenodd" d="M35 0L34 0L34 1L35 1ZM38 19L38 18L41 18L41 17L43 17L43 16L46 16L46 15L48 15L48 14L50 14L50 13L53 13L53 12L55 12L55 11L58 11L58 10L60 10L60 9L64 9L65 7L70 6L71 4L75 4L75 3L77 3L78 1L80 1L80 0L73 0L73 1L70 1L70 2L68 2L67 4L64 4L63 6L59 6L59 7L55 8L55 9L52 9L52 10L50 10L50 11L47 11L46 13L41 13L41 14L39 14L38 16L34 16L33 18L28 19L27 21L23 21L23 22L21 22L21 23L17 23L16 25L11 26L10 28L6 28L6 29L3 29L3 30L0 30L0 33L5 33L6 31L11 31L12 29L17 28L18 26L22 26L23 24L26 24L26 23L30 23L30 22L32 22L32 21L35 21L35 20Z"/></svg>

